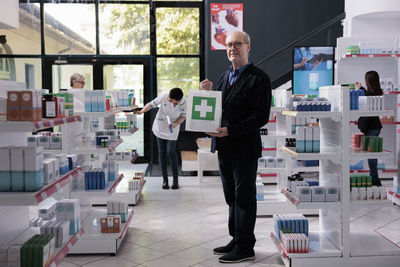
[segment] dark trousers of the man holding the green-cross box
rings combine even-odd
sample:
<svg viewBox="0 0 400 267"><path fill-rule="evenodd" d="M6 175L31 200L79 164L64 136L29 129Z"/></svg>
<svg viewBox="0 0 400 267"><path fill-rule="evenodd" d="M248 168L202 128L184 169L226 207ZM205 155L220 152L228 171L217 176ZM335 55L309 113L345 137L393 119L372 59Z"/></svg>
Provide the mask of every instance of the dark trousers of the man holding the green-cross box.
<svg viewBox="0 0 400 267"><path fill-rule="evenodd" d="M239 248L253 249L256 243L257 159L237 160L218 153L218 161L225 201L229 206L229 235Z"/></svg>

